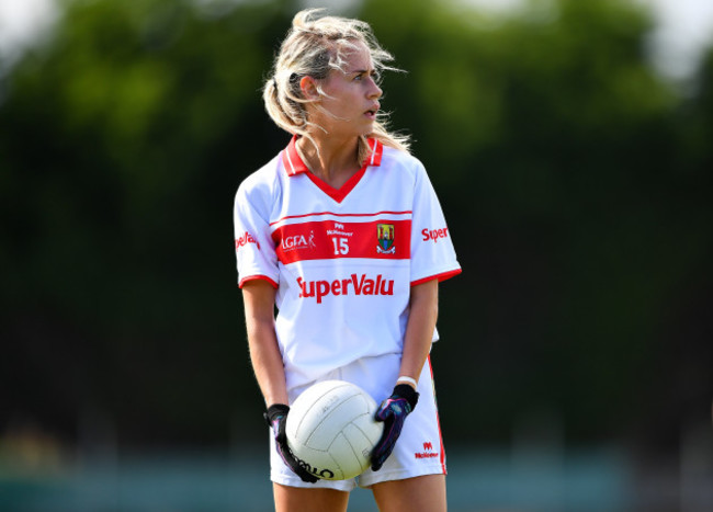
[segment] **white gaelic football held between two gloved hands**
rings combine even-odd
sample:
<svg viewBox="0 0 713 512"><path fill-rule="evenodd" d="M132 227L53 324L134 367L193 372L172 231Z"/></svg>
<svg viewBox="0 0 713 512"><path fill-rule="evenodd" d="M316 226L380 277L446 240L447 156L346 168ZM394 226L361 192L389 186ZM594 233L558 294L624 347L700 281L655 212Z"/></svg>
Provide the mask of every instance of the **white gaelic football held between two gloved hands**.
<svg viewBox="0 0 713 512"><path fill-rule="evenodd" d="M304 467L325 480L362 474L384 431L376 402L351 383L324 380L302 392L287 414L287 444Z"/></svg>

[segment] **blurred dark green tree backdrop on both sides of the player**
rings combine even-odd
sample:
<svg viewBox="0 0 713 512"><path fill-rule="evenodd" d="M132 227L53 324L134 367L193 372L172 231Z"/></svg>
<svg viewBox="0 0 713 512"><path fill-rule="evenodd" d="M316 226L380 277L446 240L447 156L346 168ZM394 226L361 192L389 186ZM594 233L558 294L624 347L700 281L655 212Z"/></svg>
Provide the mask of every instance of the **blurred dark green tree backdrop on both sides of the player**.
<svg viewBox="0 0 713 512"><path fill-rule="evenodd" d="M261 431L230 207L288 139L260 88L298 4L67 1L2 79L5 414L71 437L99 408L126 444L223 443L242 409ZM356 9L408 71L383 104L464 266L433 357L449 439L503 442L553 408L573 442L670 441L710 399L675 379L711 388L713 59L684 98L648 66L634 2ZM452 412L464 387L472 424ZM661 418L669 388L684 398Z"/></svg>

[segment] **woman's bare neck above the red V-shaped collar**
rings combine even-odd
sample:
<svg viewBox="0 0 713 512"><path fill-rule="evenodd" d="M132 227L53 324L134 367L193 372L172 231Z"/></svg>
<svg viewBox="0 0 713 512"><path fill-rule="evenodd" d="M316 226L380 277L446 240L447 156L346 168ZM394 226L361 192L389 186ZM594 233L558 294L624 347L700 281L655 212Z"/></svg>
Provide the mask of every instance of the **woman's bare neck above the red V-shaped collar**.
<svg viewBox="0 0 713 512"><path fill-rule="evenodd" d="M356 156L359 139L351 137L340 140L325 134L312 136L317 147L306 137L302 137L297 140L297 150L317 178L338 189L361 169Z"/></svg>

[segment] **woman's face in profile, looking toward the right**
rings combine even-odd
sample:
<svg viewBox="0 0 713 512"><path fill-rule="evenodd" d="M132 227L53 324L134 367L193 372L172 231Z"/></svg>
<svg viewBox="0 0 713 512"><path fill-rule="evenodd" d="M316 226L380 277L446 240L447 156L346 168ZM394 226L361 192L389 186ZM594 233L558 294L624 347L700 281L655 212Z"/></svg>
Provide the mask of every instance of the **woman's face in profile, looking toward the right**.
<svg viewBox="0 0 713 512"><path fill-rule="evenodd" d="M376 121L383 91L376 84L376 72L366 45L358 43L344 62L343 71L331 70L321 83L326 96L317 103L331 115L315 109L310 112L310 121L330 136L369 135Z"/></svg>

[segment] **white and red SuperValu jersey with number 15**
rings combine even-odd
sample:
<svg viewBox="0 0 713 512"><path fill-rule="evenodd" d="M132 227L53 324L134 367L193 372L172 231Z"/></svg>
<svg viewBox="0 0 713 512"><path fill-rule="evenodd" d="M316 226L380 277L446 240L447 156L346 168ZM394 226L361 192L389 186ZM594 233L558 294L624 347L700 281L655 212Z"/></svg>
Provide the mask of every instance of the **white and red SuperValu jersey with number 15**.
<svg viewBox="0 0 713 512"><path fill-rule="evenodd" d="M240 184L234 214L239 285L261 278L278 289L288 389L400 354L410 287L461 272L420 161L370 139L364 167L336 190L295 143Z"/></svg>

